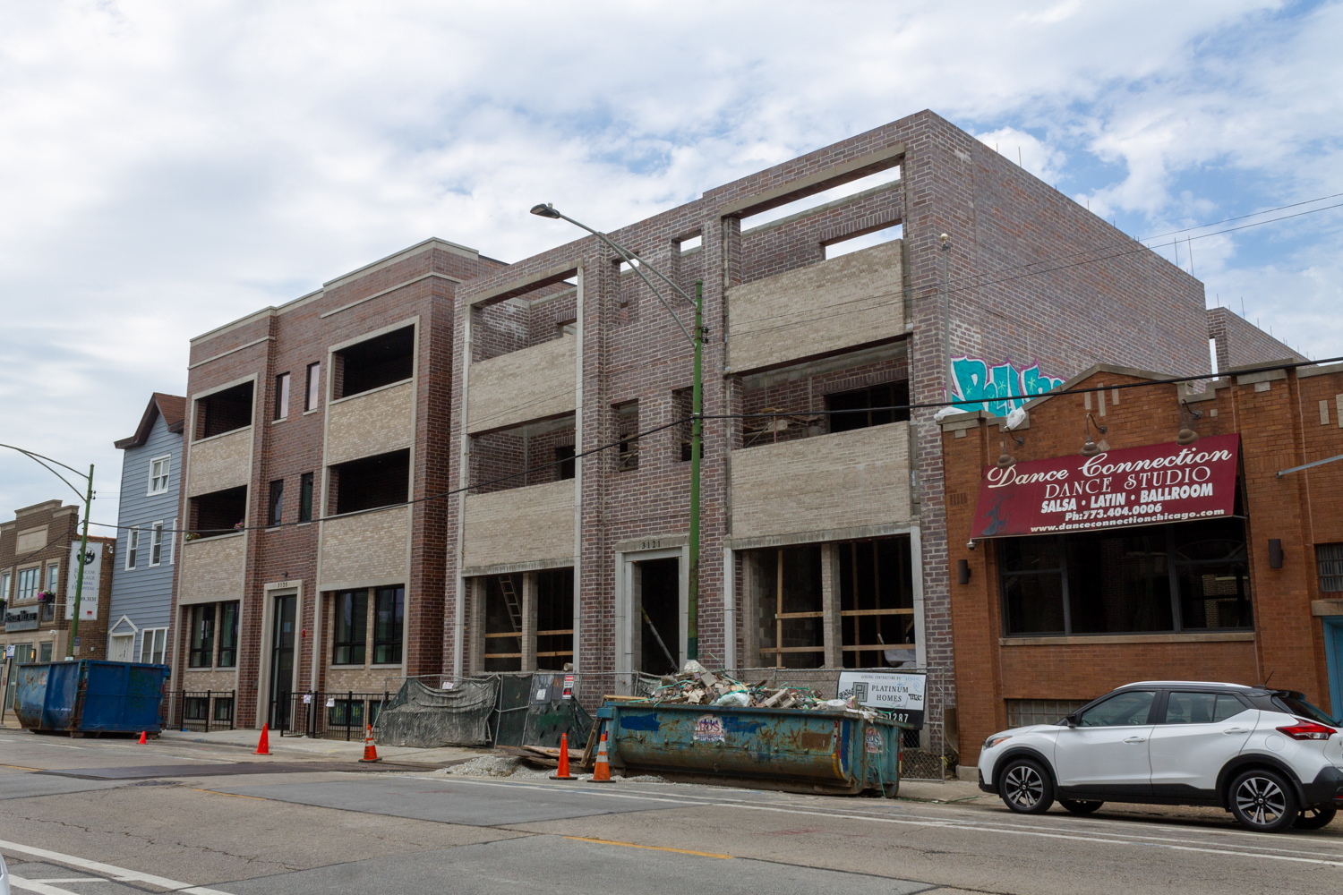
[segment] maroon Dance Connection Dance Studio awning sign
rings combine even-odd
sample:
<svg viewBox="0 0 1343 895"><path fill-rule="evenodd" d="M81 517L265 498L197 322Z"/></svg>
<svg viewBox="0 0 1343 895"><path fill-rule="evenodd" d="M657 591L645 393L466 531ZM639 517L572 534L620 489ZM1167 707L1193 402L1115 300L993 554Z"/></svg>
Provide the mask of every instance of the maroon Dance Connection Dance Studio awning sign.
<svg viewBox="0 0 1343 895"><path fill-rule="evenodd" d="M1238 435L984 468L975 538L1232 515Z"/></svg>

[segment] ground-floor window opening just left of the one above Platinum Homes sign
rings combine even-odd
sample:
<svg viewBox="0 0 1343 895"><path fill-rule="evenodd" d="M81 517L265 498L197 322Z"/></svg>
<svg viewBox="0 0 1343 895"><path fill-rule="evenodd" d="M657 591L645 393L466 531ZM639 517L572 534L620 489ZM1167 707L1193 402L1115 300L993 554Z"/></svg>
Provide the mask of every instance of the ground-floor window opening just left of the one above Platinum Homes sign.
<svg viewBox="0 0 1343 895"><path fill-rule="evenodd" d="M753 556L760 666L819 668L826 660L821 545Z"/></svg>

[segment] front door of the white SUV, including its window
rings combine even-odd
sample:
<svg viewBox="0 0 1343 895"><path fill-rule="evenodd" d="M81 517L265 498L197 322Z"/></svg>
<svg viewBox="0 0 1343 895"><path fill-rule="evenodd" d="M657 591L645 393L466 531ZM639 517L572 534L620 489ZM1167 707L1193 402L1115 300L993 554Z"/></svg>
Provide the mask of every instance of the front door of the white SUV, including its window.
<svg viewBox="0 0 1343 895"><path fill-rule="evenodd" d="M1155 699L1155 690L1125 690L1084 711L1076 727L1061 730L1054 742L1058 784L1147 792L1152 778L1148 715Z"/></svg>

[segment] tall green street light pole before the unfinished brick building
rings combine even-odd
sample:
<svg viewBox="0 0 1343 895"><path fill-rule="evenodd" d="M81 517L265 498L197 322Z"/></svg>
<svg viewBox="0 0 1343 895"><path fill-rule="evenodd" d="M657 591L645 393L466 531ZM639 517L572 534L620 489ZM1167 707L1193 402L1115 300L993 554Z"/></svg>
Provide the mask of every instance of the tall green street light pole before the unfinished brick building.
<svg viewBox="0 0 1343 895"><path fill-rule="evenodd" d="M694 298L690 298L684 288L667 279L661 271L658 271L651 264L643 262L634 252L620 247L606 233L592 229L587 224L573 220L567 215L561 215L551 204L533 205L532 213L537 217L551 217L553 220L567 220L575 227L586 229L592 233L603 243L615 250L615 252L624 259L630 268L639 275L639 279L653 290L653 294L662 307L666 309L667 314L676 322L677 327L686 337L690 345L694 348L694 378L690 384L690 569L689 569L689 586L686 588L686 624L685 624L685 655L686 659L700 657L700 458L704 447L704 280L694 280ZM647 267L661 279L663 283L670 286L674 291L680 293L681 297L694 306L694 335L692 335L681 318L676 315L667 299L662 297L658 287L653 284L645 274L643 268ZM582 408L579 408L582 411ZM580 451L582 452L582 451Z"/></svg>

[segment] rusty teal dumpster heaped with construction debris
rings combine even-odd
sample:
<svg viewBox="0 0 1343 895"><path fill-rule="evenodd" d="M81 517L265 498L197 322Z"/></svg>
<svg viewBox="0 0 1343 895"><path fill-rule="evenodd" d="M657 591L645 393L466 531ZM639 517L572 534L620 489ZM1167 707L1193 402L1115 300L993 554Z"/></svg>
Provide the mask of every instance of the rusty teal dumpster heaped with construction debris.
<svg viewBox="0 0 1343 895"><path fill-rule="evenodd" d="M900 725L843 710L607 703L612 769L705 776L795 792L900 790Z"/></svg>

